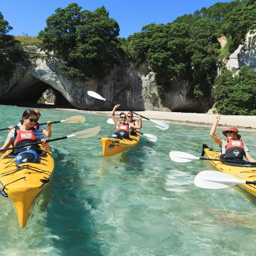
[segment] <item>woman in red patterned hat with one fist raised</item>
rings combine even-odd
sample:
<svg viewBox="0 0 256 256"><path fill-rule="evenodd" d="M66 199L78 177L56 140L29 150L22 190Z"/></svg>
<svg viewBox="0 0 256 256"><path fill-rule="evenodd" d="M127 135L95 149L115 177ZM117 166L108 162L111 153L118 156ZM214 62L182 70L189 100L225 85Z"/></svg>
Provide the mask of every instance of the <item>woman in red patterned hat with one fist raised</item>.
<svg viewBox="0 0 256 256"><path fill-rule="evenodd" d="M212 125L210 135L212 139L220 146L221 156L225 159L237 159L242 160L243 157L249 162L256 162L250 154L248 148L244 145L242 140L240 140L241 135L238 134L238 129L234 126L228 127L227 130L222 131L223 135L227 137L227 140L221 140L215 135L217 124L220 121L220 116L216 116L215 122Z"/></svg>

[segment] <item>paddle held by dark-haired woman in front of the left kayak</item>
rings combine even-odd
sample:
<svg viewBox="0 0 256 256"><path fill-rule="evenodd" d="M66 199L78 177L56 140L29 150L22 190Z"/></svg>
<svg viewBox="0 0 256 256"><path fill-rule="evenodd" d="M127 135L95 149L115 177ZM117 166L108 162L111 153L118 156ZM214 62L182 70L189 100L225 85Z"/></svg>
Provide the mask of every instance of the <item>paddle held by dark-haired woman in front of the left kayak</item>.
<svg viewBox="0 0 256 256"><path fill-rule="evenodd" d="M100 132L100 126L97 126L97 127L91 128L91 129L87 129L87 130L84 130L81 132L75 132L70 135L60 137L60 138L46 140L46 142L51 142L51 141L56 141L56 140L65 140L65 139L74 138L74 137L80 138L80 139L90 138L90 137L95 136L98 132ZM12 147L12 148L3 148L3 149L0 149L0 151L12 150L15 148L23 148L25 146L27 147L27 146L37 145L37 144L41 144L41 143L42 143L42 141L38 141L38 142L33 142L33 143L26 144L26 145Z"/></svg>

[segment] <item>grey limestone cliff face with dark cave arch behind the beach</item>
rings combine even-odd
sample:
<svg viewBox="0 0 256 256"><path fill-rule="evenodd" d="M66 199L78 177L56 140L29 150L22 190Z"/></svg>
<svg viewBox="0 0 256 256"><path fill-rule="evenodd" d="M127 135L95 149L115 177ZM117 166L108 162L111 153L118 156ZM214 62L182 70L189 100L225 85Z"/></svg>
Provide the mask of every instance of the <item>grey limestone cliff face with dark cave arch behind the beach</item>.
<svg viewBox="0 0 256 256"><path fill-rule="evenodd" d="M25 50L39 52L34 46ZM160 100L155 74L147 63L140 68L132 64L116 67L102 81L83 82L63 74L59 69L62 61L53 57L53 53L39 53L44 55L19 63L12 78L0 84L0 102L37 102L47 89L52 89L56 95L55 104L70 103L83 110L113 108L106 101L90 97L87 94L89 90L132 110L206 112L213 104L209 99L204 102L189 100L186 97L189 84L182 80L174 81L171 91L165 93L164 100Z"/></svg>

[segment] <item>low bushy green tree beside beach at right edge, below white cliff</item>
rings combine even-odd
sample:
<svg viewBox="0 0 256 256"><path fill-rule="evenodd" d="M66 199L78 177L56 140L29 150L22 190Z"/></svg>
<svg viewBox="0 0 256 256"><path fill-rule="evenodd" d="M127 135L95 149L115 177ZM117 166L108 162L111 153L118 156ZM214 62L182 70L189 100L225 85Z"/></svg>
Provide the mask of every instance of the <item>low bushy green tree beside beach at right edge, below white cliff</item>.
<svg viewBox="0 0 256 256"><path fill-rule="evenodd" d="M256 72L249 66L241 67L236 75L223 68L214 85L212 96L220 114L256 115Z"/></svg>

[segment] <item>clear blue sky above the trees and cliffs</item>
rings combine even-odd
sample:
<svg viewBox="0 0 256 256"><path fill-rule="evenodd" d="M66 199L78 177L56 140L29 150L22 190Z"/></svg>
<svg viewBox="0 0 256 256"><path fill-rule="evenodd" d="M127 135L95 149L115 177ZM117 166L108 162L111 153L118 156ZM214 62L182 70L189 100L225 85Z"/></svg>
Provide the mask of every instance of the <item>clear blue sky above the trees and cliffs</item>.
<svg viewBox="0 0 256 256"><path fill-rule="evenodd" d="M77 3L82 10L94 11L102 5L120 27L120 37L139 32L144 25L152 22L168 23L184 14L194 13L202 7L231 0L0 0L0 12L13 30L9 34L37 36L46 27L45 20L55 10Z"/></svg>

